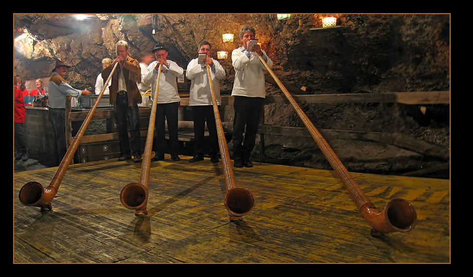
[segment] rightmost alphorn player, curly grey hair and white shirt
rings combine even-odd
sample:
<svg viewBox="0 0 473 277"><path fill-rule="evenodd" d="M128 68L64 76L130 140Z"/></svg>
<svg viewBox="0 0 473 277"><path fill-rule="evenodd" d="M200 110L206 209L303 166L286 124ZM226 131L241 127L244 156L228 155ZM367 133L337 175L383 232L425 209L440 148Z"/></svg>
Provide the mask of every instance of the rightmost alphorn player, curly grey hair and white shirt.
<svg viewBox="0 0 473 277"><path fill-rule="evenodd" d="M250 156L255 146L263 100L266 97L264 88L264 70L266 68L253 52L260 54L269 68L273 66L271 59L266 56L266 52L258 44L255 44L252 49L248 49L248 44L251 39L255 38L255 35L256 31L253 27L243 26L240 30L240 40L243 46L231 53L231 61L235 69L235 80L231 92L234 97L233 109L235 113L232 136L234 167L253 166Z"/></svg>

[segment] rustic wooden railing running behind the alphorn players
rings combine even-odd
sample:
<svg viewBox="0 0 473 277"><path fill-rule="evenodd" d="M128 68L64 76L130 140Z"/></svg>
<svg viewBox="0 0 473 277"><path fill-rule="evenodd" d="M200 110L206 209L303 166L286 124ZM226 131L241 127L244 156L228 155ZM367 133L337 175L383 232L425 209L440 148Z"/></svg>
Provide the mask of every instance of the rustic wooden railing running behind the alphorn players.
<svg viewBox="0 0 473 277"><path fill-rule="evenodd" d="M267 80L268 81L268 80ZM320 104L320 103L399 103L408 105L424 105L424 104L450 104L450 91L429 91L429 92L386 92L386 93L361 93L361 94L315 94L315 95L297 95L301 91L288 86L289 91L294 92L294 99L299 104ZM297 91L294 91L294 90ZM70 103L70 101L68 102ZM264 104L289 104L287 99L282 95L267 96ZM181 106L189 105L189 98L181 98ZM222 96L222 105L220 111L225 111L226 105L233 105L232 96ZM150 108L142 107L139 109L140 117L150 115ZM88 111L71 112L70 105L66 107L66 138L68 144L71 137L71 122L84 121ZM97 109L92 120L96 119L113 119L115 117L113 109ZM225 118L221 116L222 120ZM231 122L222 122L226 133L232 132ZM179 121L179 129L193 129L192 121ZM347 131L347 130L319 130L324 138L329 139L353 139L364 141L375 141L385 144L394 145L406 150L419 153L424 156L431 156L442 161L449 161L450 150L446 147L437 145L425 140L408 137L398 133L377 133L363 131ZM145 137L147 131L142 130L141 136ZM309 132L306 128L271 126L264 124L264 114L258 129L260 134L260 160L264 162L264 135L281 135L308 137ZM98 142L106 140L118 140L118 134L109 133L101 135L84 136L81 143Z"/></svg>

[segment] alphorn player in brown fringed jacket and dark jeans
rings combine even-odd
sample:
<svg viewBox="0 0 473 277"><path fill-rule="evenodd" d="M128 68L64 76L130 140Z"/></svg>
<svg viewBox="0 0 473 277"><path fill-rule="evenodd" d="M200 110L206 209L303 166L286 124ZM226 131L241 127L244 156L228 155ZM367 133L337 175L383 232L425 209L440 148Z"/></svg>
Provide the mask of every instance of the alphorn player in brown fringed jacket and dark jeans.
<svg viewBox="0 0 473 277"><path fill-rule="evenodd" d="M128 55L129 49L126 41L120 40L115 47L117 57L102 70L102 78L107 80L115 64L119 63L113 72L109 87L110 104L113 104L115 120L117 121L117 133L120 140L121 153L118 160L124 161L133 156L133 162L140 162L141 134L138 104L141 103L141 94L137 86L137 83L141 82L140 62ZM126 125L127 117L130 125L130 142L128 141ZM130 152L130 144L132 152Z"/></svg>

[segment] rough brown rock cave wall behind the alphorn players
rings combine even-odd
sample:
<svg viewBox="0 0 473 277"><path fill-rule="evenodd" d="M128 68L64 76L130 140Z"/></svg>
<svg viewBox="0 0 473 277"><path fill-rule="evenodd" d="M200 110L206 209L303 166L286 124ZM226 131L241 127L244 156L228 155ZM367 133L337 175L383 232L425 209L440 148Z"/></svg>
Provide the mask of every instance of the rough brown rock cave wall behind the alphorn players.
<svg viewBox="0 0 473 277"><path fill-rule="evenodd" d="M26 80L44 78L51 75L56 60L63 60L72 66L67 76L72 87L93 87L101 60L116 56L114 45L120 39L129 42L130 56L138 60L155 44L164 43L170 47L168 58L186 69L197 56L201 40L212 43L213 58L217 51L231 53L241 46L240 27L248 24L255 27L256 37L273 60L273 71L280 80L303 87L307 94L450 89L450 15L332 14L338 18L337 25L345 28L311 30L322 27L325 16L296 14L278 20L274 14L139 14L95 15L77 21L70 15L15 14L14 28L24 28L31 35L15 43L14 71ZM225 33L233 33L235 42L222 42ZM227 70L226 78L220 81L221 93L229 95L234 77L231 59L219 61ZM267 84L267 93L279 94L279 87ZM427 125L416 122L409 112L412 107L403 105L301 104L301 108L320 129L397 132L446 147L450 143L449 105L429 106L433 120ZM229 111L224 120L231 117ZM303 127L295 111L284 104L267 105L265 122ZM330 168L310 140L266 136L267 158ZM386 145L329 143L353 170L366 171L371 162L383 168L380 171L415 170L435 163L412 153L399 154ZM254 156L257 151L258 147ZM393 152L404 162L393 158ZM406 167L405 160L419 162ZM386 166L379 166L384 163Z"/></svg>

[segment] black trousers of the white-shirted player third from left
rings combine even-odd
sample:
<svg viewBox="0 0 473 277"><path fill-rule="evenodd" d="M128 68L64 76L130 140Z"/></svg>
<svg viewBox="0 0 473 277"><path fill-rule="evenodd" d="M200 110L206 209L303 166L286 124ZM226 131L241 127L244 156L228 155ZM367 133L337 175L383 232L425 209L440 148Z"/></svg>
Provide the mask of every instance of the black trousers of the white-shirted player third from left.
<svg viewBox="0 0 473 277"><path fill-rule="evenodd" d="M212 105L203 106L192 106L191 107L192 120L194 122L194 152L196 155L204 155L204 132L205 122L207 122L207 129L209 129L209 148L210 156L217 155L219 151L218 147L218 135L217 126L215 123L215 115L213 114Z"/></svg>

